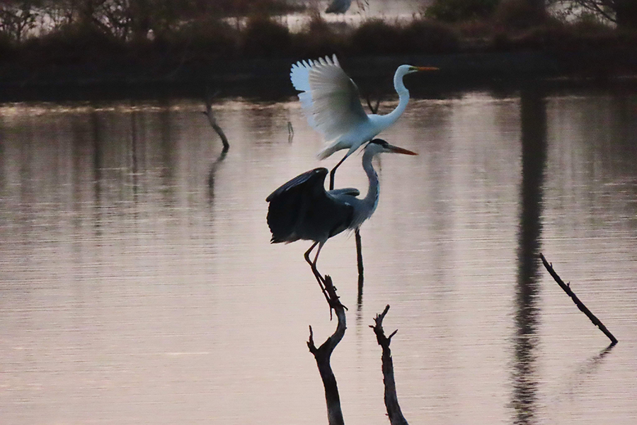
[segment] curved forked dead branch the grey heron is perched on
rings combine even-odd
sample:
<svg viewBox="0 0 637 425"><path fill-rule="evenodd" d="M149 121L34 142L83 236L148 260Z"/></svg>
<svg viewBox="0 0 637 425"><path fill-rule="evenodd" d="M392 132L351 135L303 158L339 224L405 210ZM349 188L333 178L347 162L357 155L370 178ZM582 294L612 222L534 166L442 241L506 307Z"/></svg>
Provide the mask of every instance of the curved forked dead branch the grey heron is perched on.
<svg viewBox="0 0 637 425"><path fill-rule="evenodd" d="M314 345L314 334L312 333L312 327L309 327L309 340L307 341L307 347L310 353L314 354L316 359L316 365L319 367L319 373L321 374L321 380L323 380L323 387L325 387L325 402L328 410L328 424L329 425L343 425L343 411L340 409L340 397L338 396L338 386L336 385L336 378L330 365L330 357L334 348L338 345L343 336L345 336L345 329L347 324L345 321L345 307L338 300L336 295L336 288L332 284L332 278L325 276L324 278L325 290L328 295L328 304L333 309L338 318L338 324L336 330L328 339L326 339L319 348Z"/></svg>

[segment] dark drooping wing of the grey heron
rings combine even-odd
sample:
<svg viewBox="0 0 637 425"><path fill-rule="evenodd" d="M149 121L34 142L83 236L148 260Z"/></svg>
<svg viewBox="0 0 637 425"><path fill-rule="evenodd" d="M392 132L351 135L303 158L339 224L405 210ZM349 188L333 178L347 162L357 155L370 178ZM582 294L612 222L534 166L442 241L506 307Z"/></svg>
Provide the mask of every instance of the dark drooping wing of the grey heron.
<svg viewBox="0 0 637 425"><path fill-rule="evenodd" d="M327 240L352 222L354 208L328 196L323 186L328 170L306 171L288 181L267 200L272 243L299 239Z"/></svg>

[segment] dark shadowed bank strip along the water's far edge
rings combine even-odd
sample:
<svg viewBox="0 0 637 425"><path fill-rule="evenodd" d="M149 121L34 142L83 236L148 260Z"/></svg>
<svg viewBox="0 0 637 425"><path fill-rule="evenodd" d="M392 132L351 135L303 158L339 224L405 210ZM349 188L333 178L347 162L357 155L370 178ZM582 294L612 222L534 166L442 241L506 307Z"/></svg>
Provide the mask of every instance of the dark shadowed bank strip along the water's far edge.
<svg viewBox="0 0 637 425"><path fill-rule="evenodd" d="M0 66L0 101L84 100L202 96L206 87L221 96L287 97L289 67L300 58L217 60L210 64L82 64L29 69ZM346 72L359 84L382 84L391 92L391 76L403 63L440 68L408 82L416 96L435 91L461 91L479 87L516 87L543 81L556 85L599 85L609 81L637 81L637 49L579 52L460 52L447 55L393 55L339 57Z"/></svg>

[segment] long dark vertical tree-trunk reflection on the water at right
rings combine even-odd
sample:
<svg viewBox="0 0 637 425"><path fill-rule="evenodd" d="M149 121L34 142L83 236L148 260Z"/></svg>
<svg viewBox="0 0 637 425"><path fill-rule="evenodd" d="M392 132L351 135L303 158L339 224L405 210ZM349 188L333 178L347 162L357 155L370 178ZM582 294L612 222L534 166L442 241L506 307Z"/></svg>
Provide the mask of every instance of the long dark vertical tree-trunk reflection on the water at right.
<svg viewBox="0 0 637 425"><path fill-rule="evenodd" d="M537 89L520 94L522 188L518 230L517 294L513 338L512 395L514 424L536 423L536 334L539 322L542 185L546 168L546 103Z"/></svg>

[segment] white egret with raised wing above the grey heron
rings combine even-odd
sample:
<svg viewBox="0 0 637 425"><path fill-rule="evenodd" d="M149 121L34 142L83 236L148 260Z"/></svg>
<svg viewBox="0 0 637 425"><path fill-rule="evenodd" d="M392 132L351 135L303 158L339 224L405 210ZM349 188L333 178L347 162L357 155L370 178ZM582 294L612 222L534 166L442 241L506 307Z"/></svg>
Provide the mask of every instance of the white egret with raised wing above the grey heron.
<svg viewBox="0 0 637 425"><path fill-rule="evenodd" d="M330 173L330 188L333 188L334 173L363 143L372 140L379 132L396 123L409 101L409 91L403 77L419 71L434 71L435 67L413 67L401 65L394 74L394 89L398 94L398 106L386 115L367 114L360 103L360 94L355 82L345 74L336 55L304 60L292 65L289 78L299 93L299 101L309 125L321 132L326 142L331 142L319 152L325 159L334 152L348 149L345 157Z"/></svg>

